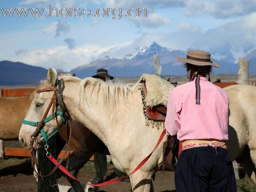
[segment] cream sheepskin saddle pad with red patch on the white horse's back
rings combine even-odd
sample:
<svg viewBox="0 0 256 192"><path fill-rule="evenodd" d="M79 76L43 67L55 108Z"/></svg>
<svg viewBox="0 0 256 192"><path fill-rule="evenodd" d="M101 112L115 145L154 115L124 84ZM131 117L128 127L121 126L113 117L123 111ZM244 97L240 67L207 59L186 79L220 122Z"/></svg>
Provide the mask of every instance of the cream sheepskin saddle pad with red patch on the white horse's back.
<svg viewBox="0 0 256 192"><path fill-rule="evenodd" d="M164 121L167 101L175 86L158 75L145 73L138 82L142 84L144 115L150 120Z"/></svg>

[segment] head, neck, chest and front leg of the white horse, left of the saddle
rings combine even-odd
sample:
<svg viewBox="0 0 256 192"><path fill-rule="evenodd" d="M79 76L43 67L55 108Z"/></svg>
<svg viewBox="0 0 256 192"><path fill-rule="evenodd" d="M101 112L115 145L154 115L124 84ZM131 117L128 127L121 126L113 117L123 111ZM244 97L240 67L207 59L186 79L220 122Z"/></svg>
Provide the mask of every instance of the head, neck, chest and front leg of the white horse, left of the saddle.
<svg viewBox="0 0 256 192"><path fill-rule="evenodd" d="M47 81L41 88L53 87L58 79L49 69ZM81 122L108 146L112 162L120 171L129 174L153 150L163 129L145 125L141 84L134 86L104 82L100 79L63 77L64 102L73 120ZM38 93L26 116L28 121L40 121L52 97L52 92ZM60 118L57 118L60 122ZM58 128L55 121L44 126L47 134ZM35 127L22 125L19 139L24 148L30 148L31 135ZM41 134L36 138L41 147ZM166 138L164 139L166 140ZM159 170L163 161L163 142L151 158L136 173L130 176L134 192L153 191L151 177Z"/></svg>

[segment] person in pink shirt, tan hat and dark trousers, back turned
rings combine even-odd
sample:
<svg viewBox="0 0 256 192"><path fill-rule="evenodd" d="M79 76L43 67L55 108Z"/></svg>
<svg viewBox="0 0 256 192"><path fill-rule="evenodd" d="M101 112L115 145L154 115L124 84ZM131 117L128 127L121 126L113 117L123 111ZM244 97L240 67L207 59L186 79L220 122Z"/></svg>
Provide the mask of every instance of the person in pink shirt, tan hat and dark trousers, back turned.
<svg viewBox="0 0 256 192"><path fill-rule="evenodd" d="M236 192L236 178L225 140L228 140L228 96L210 82L210 53L188 51L189 82L172 90L165 127L182 141L175 170L176 192ZM208 80L206 76L208 75Z"/></svg>

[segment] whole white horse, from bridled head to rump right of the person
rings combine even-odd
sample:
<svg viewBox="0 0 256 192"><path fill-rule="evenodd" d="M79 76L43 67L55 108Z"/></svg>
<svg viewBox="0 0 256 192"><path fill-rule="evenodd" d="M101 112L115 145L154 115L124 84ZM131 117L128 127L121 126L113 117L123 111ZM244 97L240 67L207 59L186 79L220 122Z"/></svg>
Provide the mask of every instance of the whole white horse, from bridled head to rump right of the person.
<svg viewBox="0 0 256 192"><path fill-rule="evenodd" d="M58 79L49 69L47 81L42 88L53 87ZM81 122L96 134L108 147L114 166L131 173L154 148L162 129L145 125L141 85L113 84L98 79L64 77L64 102L73 120ZM227 146L233 160L240 157L249 177L256 183L256 87L234 85L225 89L229 95L229 140ZM49 105L52 92L35 96L26 120L40 121ZM57 118L60 121L59 118ZM58 129L56 121L46 123L44 130L51 134ZM30 138L35 128L22 125L19 139L25 148L30 148ZM37 148L41 147L41 134L36 138ZM166 138L164 138L166 140ZM34 143L35 144L35 143ZM152 154L145 165L130 176L133 191L153 191L151 176L159 170L163 161L163 143ZM250 149L250 154L246 149ZM250 159L251 157L251 159ZM253 164L254 163L254 164Z"/></svg>

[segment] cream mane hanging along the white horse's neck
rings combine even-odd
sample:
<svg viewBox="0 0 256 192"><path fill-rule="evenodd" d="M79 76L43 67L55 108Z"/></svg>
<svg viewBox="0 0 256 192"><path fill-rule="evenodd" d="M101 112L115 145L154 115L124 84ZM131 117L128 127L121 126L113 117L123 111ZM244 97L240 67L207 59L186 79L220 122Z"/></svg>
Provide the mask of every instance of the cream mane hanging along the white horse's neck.
<svg viewBox="0 0 256 192"><path fill-rule="evenodd" d="M130 96L134 96L137 90L141 89L141 84L124 84L121 81L102 81L101 79L96 79L92 77L85 78L81 80L79 86L79 96L80 99L86 102L84 99L85 89L91 87L91 97L93 91L95 91L97 96L99 94L103 97L103 103L105 108L116 108L120 102L127 103Z"/></svg>

